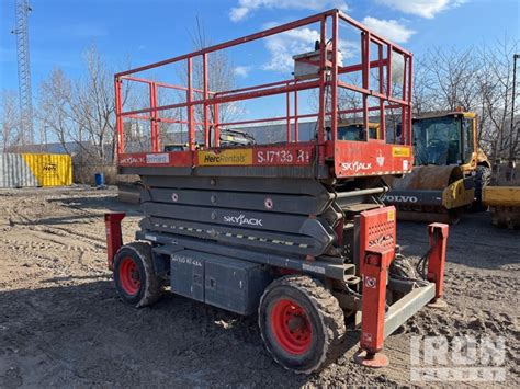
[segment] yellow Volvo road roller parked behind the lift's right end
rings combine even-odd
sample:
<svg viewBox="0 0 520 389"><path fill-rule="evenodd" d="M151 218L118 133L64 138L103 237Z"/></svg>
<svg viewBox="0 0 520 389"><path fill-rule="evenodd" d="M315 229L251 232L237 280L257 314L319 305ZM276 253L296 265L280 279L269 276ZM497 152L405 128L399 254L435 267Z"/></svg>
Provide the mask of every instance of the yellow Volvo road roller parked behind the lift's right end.
<svg viewBox="0 0 520 389"><path fill-rule="evenodd" d="M471 112L417 117L414 123L414 170L387 178L384 202L404 220L456 224L472 205L482 208L482 190L490 162L478 148L477 118Z"/></svg>

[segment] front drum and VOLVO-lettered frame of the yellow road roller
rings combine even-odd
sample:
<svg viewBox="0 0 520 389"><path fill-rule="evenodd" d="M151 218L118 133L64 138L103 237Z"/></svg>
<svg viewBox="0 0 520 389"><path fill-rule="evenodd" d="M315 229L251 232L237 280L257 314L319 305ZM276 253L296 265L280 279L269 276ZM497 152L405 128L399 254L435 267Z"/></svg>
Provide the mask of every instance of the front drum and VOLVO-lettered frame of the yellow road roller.
<svg viewBox="0 0 520 389"><path fill-rule="evenodd" d="M425 165L403 179L386 179L383 201L397 207L400 220L456 224L475 196L473 178L460 167Z"/></svg>

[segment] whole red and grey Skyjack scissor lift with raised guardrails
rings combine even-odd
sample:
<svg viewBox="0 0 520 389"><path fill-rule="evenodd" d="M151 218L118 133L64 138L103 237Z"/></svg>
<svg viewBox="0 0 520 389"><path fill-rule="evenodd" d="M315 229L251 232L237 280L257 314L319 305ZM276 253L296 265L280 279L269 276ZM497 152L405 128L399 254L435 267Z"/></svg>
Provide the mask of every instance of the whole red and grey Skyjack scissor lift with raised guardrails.
<svg viewBox="0 0 520 389"><path fill-rule="evenodd" d="M339 60L340 22L359 32L359 64ZM208 55L307 25L318 26L320 39L315 52L294 57L293 79L210 91ZM399 88L393 56L403 59ZM195 59L202 78L194 78ZM185 87L134 76L177 62L185 64ZM342 79L352 72L361 75L361 84ZM347 328L358 327L357 361L384 366L384 339L426 305L440 305L442 297L448 226L428 227L430 249L421 259L422 271L411 275L396 244L396 209L381 201L387 191L381 178L406 174L412 165L411 76L410 53L338 10L117 73L118 172L140 176L145 215L136 241L127 244L122 242L124 214L105 216L109 267L122 299L148 306L169 286L194 300L256 313L268 351L297 373L334 361ZM193 79L202 83L194 85ZM124 111L127 82L148 87L149 107ZM186 99L159 105L160 88L181 91ZM358 93L362 107L341 108L339 89ZM298 94L308 90L317 91L319 108L302 114ZM218 118L222 104L280 95L286 116ZM188 115L172 118L163 114L169 110ZM402 117L400 138L394 142L386 139L388 110L398 110ZM377 139L369 136L370 113L377 113ZM363 117L364 139L338 140L338 117L352 114ZM298 135L303 117L316 118L312 139ZM128 150L125 119L150 123L150 150ZM221 144L226 128L280 121L287 125L283 142ZM165 123L185 126L185 147L161 149L159 126Z"/></svg>

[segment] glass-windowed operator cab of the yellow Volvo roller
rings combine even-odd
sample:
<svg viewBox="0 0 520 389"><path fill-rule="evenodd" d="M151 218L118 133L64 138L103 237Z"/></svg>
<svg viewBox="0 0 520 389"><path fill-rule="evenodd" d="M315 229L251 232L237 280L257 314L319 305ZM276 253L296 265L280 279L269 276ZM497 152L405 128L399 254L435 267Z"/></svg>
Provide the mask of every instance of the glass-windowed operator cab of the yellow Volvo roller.
<svg viewBox="0 0 520 389"><path fill-rule="evenodd" d="M475 115L462 112L412 121L416 165L463 165L475 156Z"/></svg>

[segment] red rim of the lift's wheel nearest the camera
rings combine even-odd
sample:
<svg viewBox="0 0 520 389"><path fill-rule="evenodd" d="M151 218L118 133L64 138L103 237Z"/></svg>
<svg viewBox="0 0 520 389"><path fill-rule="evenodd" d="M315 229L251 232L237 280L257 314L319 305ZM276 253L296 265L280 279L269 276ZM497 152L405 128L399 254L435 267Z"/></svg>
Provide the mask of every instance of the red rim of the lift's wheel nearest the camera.
<svg viewBox="0 0 520 389"><path fill-rule="evenodd" d="M274 337L285 352L301 355L308 351L313 328L305 309L292 300L279 300L271 311L270 320Z"/></svg>

